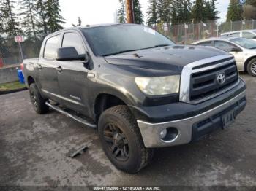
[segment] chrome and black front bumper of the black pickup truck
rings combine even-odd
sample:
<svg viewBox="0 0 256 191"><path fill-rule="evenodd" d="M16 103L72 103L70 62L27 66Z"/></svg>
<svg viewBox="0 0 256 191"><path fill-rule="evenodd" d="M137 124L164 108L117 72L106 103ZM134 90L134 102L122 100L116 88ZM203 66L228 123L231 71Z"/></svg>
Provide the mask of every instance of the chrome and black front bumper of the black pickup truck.
<svg viewBox="0 0 256 191"><path fill-rule="evenodd" d="M225 101L225 103L193 117L159 123L144 122L142 120L138 120L137 122L145 147L170 147L179 144L187 144L190 141L200 139L202 136L211 133L211 131L221 127L222 114L233 109L236 116L245 106L246 90L239 93L234 98ZM176 128L178 135L170 141L163 141L159 134L165 128Z"/></svg>

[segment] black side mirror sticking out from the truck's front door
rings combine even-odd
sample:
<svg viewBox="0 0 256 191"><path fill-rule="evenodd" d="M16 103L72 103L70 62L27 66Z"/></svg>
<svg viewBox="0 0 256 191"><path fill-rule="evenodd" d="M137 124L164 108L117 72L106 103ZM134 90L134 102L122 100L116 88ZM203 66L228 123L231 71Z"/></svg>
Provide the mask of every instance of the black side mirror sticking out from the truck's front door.
<svg viewBox="0 0 256 191"><path fill-rule="evenodd" d="M75 60L86 60L86 55L78 55L75 47L61 47L57 50L56 55L57 61L75 61Z"/></svg>

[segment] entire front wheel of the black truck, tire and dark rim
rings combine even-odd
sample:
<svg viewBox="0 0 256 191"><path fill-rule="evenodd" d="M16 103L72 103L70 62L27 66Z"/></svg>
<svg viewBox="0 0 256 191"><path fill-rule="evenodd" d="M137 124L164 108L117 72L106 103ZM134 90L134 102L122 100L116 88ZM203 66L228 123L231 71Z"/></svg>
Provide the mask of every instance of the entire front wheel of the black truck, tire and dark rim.
<svg viewBox="0 0 256 191"><path fill-rule="evenodd" d="M150 163L153 149L144 146L135 117L127 106L114 106L103 112L98 130L105 155L116 168L134 174Z"/></svg>

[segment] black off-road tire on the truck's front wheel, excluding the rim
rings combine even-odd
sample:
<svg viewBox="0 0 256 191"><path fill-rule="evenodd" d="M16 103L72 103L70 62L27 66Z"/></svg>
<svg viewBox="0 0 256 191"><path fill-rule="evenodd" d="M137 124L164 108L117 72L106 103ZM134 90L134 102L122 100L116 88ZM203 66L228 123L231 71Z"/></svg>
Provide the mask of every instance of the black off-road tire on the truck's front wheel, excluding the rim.
<svg viewBox="0 0 256 191"><path fill-rule="evenodd" d="M116 125L123 132L126 137L125 139L128 141L129 157L125 161L117 160L110 150L109 144L111 143L105 141L104 131L105 128L108 127L108 124ZM105 110L99 117L98 131L105 155L107 155L108 159L116 168L130 174L135 174L150 163L154 155L154 150L147 149L144 146L138 124L127 106L114 106Z"/></svg>

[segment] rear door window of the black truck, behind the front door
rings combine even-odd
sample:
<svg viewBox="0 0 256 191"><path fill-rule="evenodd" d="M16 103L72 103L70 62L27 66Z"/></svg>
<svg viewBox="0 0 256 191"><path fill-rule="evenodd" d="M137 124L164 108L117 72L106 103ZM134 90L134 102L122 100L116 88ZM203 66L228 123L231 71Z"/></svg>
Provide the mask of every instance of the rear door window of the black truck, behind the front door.
<svg viewBox="0 0 256 191"><path fill-rule="evenodd" d="M59 48L59 35L50 37L45 43L44 58L53 60Z"/></svg>

